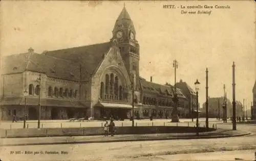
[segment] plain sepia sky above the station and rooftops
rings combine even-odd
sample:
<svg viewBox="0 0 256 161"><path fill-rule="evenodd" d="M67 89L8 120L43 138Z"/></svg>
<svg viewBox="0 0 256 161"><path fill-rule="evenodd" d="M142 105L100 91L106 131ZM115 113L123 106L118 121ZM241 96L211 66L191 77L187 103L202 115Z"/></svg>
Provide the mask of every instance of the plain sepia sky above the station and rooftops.
<svg viewBox="0 0 256 161"><path fill-rule="evenodd" d="M112 38L115 21L124 2L2 1L2 56L55 50ZM181 14L181 9L163 5L229 5L211 9L211 14ZM236 99L252 101L255 81L255 3L253 1L161 1L125 2L140 44L140 75L150 81L174 84L173 60L178 61L177 81L194 89L201 82L199 102L205 101L205 69L208 67L209 96L232 101L232 62L236 63ZM189 9L185 9L190 11ZM197 11L199 9L193 9ZM207 11L207 9L201 9ZM208 9L209 10L209 9ZM10 62L11 63L11 62Z"/></svg>

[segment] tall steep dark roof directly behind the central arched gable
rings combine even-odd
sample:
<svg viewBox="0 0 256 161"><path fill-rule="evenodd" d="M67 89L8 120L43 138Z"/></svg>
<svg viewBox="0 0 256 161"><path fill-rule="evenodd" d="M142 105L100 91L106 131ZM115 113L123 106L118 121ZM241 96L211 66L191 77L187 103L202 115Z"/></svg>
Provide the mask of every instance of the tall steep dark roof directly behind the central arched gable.
<svg viewBox="0 0 256 161"><path fill-rule="evenodd" d="M46 51L44 54L81 65L81 81L88 81L110 47L111 42L105 42L88 46Z"/></svg>

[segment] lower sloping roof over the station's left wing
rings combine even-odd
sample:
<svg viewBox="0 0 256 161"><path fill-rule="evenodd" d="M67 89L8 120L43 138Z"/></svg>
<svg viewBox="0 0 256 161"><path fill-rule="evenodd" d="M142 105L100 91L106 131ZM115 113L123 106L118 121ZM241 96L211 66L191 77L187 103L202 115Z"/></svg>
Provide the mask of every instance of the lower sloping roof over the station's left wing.
<svg viewBox="0 0 256 161"><path fill-rule="evenodd" d="M34 52L6 56L1 64L3 75L28 70L69 81L79 81L80 79L80 67L77 64Z"/></svg>

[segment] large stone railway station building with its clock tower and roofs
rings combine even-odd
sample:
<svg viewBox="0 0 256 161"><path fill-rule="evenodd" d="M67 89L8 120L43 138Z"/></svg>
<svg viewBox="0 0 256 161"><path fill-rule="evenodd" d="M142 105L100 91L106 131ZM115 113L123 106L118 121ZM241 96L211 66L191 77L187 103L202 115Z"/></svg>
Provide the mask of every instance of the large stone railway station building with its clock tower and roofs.
<svg viewBox="0 0 256 161"><path fill-rule="evenodd" d="M41 119L99 119L116 114L130 118L132 89L136 116L147 118L154 113L156 118L170 117L174 89L140 77L140 46L125 8L112 33L110 42L41 54L30 48L26 53L7 56L1 68L1 119L11 120L13 115L23 119L26 103L28 119L36 120L39 100ZM188 99L181 89L177 91L179 115L186 117Z"/></svg>

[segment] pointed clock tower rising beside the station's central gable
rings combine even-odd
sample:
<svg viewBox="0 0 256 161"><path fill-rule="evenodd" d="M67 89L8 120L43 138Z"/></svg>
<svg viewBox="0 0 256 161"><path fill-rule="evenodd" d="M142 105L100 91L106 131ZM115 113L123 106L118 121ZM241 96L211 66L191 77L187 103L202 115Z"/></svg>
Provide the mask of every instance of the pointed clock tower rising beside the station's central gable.
<svg viewBox="0 0 256 161"><path fill-rule="evenodd" d="M125 6L119 14L111 41L116 41L120 49L125 67L132 78L134 74L134 89L139 90L139 43L136 40L136 31Z"/></svg>

